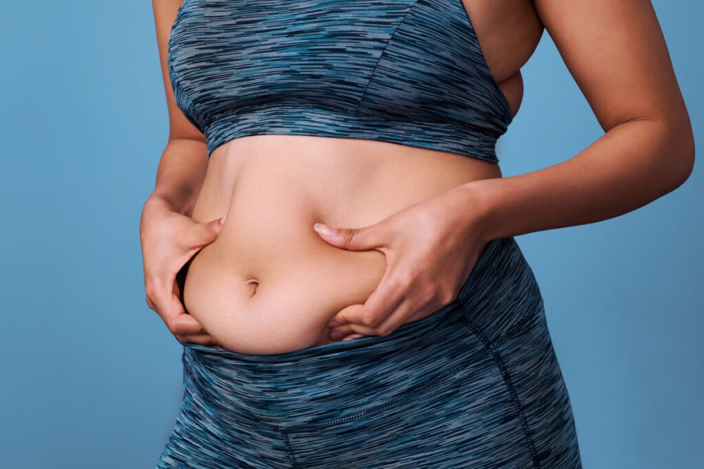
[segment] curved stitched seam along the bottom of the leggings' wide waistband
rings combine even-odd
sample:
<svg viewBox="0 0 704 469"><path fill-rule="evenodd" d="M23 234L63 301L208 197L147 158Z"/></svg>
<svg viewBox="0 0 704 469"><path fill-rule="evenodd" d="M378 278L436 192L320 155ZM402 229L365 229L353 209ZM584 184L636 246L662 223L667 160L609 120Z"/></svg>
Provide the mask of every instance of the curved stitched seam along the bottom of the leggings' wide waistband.
<svg viewBox="0 0 704 469"><path fill-rule="evenodd" d="M460 321L461 321L461 319L462 318L460 318ZM522 326L522 323L527 321L527 319L529 319L529 315L524 314L520 319L518 319L516 321L516 323L513 326L511 326L508 330L506 330L505 333L501 334L494 341L494 344L486 344L486 342L485 342L485 347L483 349L468 356L467 358L460 361L460 363L456 364L455 366L453 366L449 370L444 371L444 373L441 373L440 375L438 375L430 380L427 380L425 383L421 383L420 385L417 385L417 386L411 388L410 391L405 392L403 395L397 397L396 399L393 399L392 401L390 401L387 404L382 404L382 405L374 407L372 409L367 409L365 411L353 413L350 416L336 418L334 420L329 420L327 422L293 425L289 428L286 428L286 432L287 433L296 433L296 432L315 431L315 430L329 427L330 425L337 425L339 423L351 423L355 420L359 420L360 418L373 416L379 412L387 411L389 409L394 409L394 407L400 406L401 404L406 402L408 399L415 397L418 394L422 394L422 392L432 390L434 387L441 385L449 378L452 378L453 375L459 373L460 371L463 371L463 369L467 368L467 366L470 366L474 362L479 361L480 359L484 358L484 356L486 356L487 354L489 354L489 352L491 352L491 345L498 345L498 344L501 344L501 342L508 340L513 334L515 334L518 330L520 330L520 326ZM217 404L217 403L210 404L210 406L212 406L215 409L218 409L221 413L224 413L226 416L232 418L233 420L236 420L239 423L243 423L244 425L250 425L250 426L253 426L256 428L265 428L267 430L275 430L278 432L280 432L282 430L282 428L284 428L282 426L271 425L269 423L262 423L262 422L259 422L258 420L251 420L250 418L238 416L237 414L232 413L232 411L230 411L230 409L227 409L225 406L221 406L220 404Z"/></svg>

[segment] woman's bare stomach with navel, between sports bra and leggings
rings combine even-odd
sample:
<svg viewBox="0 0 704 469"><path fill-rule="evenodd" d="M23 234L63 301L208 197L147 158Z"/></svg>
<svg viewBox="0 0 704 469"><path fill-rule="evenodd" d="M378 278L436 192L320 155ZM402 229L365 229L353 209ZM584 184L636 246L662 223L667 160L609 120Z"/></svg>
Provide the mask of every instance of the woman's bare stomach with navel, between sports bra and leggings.
<svg viewBox="0 0 704 469"><path fill-rule="evenodd" d="M330 342L327 322L363 304L386 268L377 250L325 243L320 221L375 224L498 165L363 139L257 135L210 155L196 221L227 214L215 242L191 260L184 305L226 349L277 354Z"/></svg>

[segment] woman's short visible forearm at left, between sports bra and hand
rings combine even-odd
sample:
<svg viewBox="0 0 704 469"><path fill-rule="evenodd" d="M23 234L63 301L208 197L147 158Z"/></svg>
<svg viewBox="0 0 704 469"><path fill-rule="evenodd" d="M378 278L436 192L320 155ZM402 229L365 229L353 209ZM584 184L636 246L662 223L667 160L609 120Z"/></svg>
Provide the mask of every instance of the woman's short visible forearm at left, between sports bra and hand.
<svg viewBox="0 0 704 469"><path fill-rule="evenodd" d="M206 143L194 139L170 139L156 172L156 188L149 199L167 203L172 210L190 217L207 167Z"/></svg>

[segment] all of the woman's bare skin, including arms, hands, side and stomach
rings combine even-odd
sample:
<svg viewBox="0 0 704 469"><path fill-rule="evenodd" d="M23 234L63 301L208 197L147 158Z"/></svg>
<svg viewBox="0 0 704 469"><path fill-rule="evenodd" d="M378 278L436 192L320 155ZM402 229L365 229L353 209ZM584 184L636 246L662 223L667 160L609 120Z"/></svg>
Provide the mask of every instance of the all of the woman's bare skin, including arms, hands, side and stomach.
<svg viewBox="0 0 704 469"><path fill-rule="evenodd" d="M488 240L636 210L693 167L691 122L648 1L464 1L514 113L518 70L544 27L605 131L572 158L510 177L451 153L316 136L247 136L208 161L165 73L180 3L153 0L170 136L141 236L147 302L182 342L279 353L336 332L387 335L451 301Z"/></svg>

